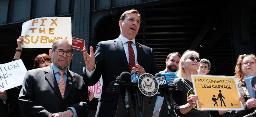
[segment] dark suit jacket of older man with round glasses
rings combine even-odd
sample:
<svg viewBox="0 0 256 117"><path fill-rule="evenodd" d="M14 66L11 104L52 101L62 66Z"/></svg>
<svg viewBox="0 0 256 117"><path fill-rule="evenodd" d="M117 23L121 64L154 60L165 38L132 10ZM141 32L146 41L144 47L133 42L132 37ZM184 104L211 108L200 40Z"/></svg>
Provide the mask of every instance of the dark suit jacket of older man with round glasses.
<svg viewBox="0 0 256 117"><path fill-rule="evenodd" d="M26 72L19 95L20 107L25 116L48 117L52 113L66 111L67 107L74 107L79 117L88 115L88 86L80 75L70 70L67 72L64 99L61 97L52 65Z"/></svg>

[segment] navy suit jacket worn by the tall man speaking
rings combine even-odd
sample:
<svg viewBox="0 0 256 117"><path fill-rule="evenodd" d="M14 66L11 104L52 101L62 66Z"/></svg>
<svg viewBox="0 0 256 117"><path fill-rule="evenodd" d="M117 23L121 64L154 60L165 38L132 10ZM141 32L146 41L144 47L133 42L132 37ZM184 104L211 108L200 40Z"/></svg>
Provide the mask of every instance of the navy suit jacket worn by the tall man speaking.
<svg viewBox="0 0 256 117"><path fill-rule="evenodd" d="M153 49L145 45L135 42L137 48L137 62L141 65L146 73L155 75L157 65L154 58ZM106 89L110 83L116 80L122 72L129 72L129 64L125 55L124 46L120 38L99 42L95 51L96 69L91 78L83 74L85 83L88 86L96 84L101 75L103 80L102 94L99 98L100 107L98 105L98 113L96 116L115 116L118 105L119 94L106 93Z"/></svg>

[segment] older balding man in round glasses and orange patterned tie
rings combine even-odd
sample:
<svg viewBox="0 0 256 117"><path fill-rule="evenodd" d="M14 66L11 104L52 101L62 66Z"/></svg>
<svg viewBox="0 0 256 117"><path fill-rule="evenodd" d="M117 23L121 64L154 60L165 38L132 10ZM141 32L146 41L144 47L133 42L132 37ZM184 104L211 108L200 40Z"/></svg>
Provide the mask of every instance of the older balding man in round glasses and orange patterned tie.
<svg viewBox="0 0 256 117"><path fill-rule="evenodd" d="M65 39L56 40L49 50L52 64L26 72L19 103L27 117L85 117L90 110L88 86L83 78L67 69L73 49Z"/></svg>

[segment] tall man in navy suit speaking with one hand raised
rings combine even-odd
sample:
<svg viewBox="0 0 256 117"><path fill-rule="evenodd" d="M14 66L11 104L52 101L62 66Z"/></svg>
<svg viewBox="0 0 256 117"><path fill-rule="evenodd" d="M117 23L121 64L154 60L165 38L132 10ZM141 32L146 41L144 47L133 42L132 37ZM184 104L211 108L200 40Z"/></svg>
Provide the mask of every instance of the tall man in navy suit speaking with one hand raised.
<svg viewBox="0 0 256 117"><path fill-rule="evenodd" d="M92 86L99 81L101 75L103 79L102 94L99 97L96 116L115 116L119 94L105 91L122 72L136 70L139 75L143 73L155 75L158 72L152 48L135 41L140 23L141 16L137 10L125 11L120 17L121 33L117 39L99 42L95 55L92 47L90 47L90 55L86 52L85 47L83 49L87 66L83 74L85 83ZM129 41L132 41L132 44L128 45ZM134 52L133 59L130 58L129 51Z"/></svg>

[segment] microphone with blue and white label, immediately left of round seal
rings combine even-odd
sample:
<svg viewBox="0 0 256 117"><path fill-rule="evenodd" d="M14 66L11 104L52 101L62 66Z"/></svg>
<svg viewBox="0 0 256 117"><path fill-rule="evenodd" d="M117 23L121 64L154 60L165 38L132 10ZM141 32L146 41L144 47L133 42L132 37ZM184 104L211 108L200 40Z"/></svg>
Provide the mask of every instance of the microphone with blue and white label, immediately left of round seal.
<svg viewBox="0 0 256 117"><path fill-rule="evenodd" d="M136 76L138 77L137 78L137 82L138 82L138 79L139 79L140 75L138 75L137 73L138 72L136 70L131 71L132 82L136 82L136 80L133 80L133 77L134 77L134 79L136 79ZM136 95L136 99L137 99L137 103L138 103L138 109L141 113L141 97L140 97L140 94L139 94L139 90L138 90L137 87L134 87L134 90L135 90L135 95ZM141 116L142 116L142 113L141 113Z"/></svg>

